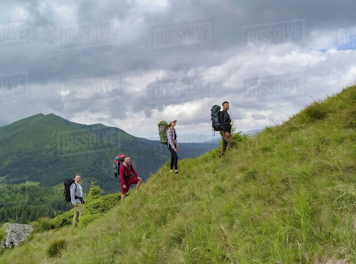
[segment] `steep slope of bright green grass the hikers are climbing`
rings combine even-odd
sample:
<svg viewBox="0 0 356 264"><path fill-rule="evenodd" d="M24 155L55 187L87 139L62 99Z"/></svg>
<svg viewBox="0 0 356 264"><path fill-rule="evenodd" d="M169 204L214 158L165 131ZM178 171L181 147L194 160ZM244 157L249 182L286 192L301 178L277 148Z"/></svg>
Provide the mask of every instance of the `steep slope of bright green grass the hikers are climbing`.
<svg viewBox="0 0 356 264"><path fill-rule="evenodd" d="M355 95L315 102L224 159L182 160L179 175L166 165L124 206L0 263L355 263ZM62 257L47 258L59 238Z"/></svg>

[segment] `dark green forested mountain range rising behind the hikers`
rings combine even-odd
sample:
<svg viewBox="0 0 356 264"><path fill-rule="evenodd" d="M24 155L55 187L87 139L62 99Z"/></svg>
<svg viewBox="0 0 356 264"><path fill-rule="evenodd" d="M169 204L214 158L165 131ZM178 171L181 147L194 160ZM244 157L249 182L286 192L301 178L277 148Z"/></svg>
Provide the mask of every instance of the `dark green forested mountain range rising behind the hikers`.
<svg viewBox="0 0 356 264"><path fill-rule="evenodd" d="M179 159L196 157L219 144L180 144ZM120 190L112 164L118 154L130 155L146 180L170 158L159 141L137 138L103 124L83 125L54 114L37 114L0 127L0 182L32 181L55 186L82 174L83 186L97 181L107 192Z"/></svg>

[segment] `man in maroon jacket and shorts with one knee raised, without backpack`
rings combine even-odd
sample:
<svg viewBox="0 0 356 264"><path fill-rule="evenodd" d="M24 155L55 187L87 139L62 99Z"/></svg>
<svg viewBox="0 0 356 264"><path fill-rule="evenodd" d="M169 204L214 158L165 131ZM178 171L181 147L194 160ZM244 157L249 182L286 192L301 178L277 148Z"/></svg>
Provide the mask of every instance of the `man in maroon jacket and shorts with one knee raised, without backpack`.
<svg viewBox="0 0 356 264"><path fill-rule="evenodd" d="M124 162L122 162L119 171L120 171L120 185L121 185L121 203L124 202L125 194L129 191L131 184L136 184L137 192L138 188L140 187L142 179L137 176L136 171L133 169L132 164L130 163L130 156L125 156ZM131 177L131 172L135 177Z"/></svg>

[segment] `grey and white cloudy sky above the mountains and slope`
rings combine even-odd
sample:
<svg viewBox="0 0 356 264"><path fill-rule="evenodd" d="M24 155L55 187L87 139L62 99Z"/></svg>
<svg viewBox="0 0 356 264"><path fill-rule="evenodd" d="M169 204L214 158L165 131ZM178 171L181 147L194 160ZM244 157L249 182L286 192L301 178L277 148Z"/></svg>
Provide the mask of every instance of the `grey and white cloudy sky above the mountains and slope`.
<svg viewBox="0 0 356 264"><path fill-rule="evenodd" d="M2 1L0 126L54 113L146 138L174 119L179 134L209 135L210 108L227 100L238 130L263 128L355 83L355 9L354 0Z"/></svg>

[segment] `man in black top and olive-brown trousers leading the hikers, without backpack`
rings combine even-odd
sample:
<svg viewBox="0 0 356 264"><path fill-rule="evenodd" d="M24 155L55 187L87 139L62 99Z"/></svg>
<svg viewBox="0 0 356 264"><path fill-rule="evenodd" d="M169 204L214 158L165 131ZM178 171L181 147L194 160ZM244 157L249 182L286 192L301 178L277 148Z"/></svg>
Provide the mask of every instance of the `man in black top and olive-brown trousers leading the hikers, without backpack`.
<svg viewBox="0 0 356 264"><path fill-rule="evenodd" d="M225 101L223 103L223 111L219 113L219 121L221 125L220 135L223 138L221 156L224 156L225 151L232 147L231 119L230 115L227 113L227 110L229 110L229 102Z"/></svg>

